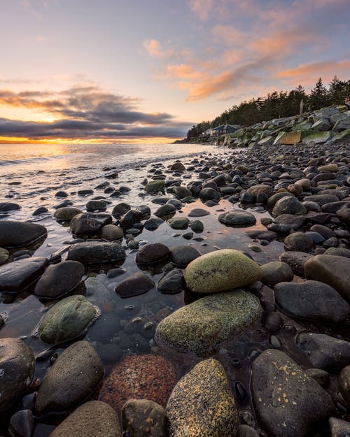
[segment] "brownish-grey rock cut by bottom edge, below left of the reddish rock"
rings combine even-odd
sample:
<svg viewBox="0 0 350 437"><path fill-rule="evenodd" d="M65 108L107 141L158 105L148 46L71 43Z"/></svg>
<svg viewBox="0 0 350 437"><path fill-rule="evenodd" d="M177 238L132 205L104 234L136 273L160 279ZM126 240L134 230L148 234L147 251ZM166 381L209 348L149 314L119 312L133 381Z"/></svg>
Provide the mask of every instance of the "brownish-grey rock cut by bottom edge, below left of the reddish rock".
<svg viewBox="0 0 350 437"><path fill-rule="evenodd" d="M104 402L90 401L76 408L50 437L122 437L116 412Z"/></svg>

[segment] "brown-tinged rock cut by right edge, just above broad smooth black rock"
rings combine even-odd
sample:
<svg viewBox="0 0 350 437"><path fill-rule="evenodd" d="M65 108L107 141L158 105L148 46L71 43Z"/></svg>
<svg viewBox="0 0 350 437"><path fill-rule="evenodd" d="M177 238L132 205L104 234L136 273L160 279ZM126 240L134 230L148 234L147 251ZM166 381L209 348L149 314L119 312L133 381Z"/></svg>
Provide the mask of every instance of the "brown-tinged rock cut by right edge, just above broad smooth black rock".
<svg viewBox="0 0 350 437"><path fill-rule="evenodd" d="M307 279L330 285L350 303L350 259L335 255L316 255L305 263Z"/></svg>

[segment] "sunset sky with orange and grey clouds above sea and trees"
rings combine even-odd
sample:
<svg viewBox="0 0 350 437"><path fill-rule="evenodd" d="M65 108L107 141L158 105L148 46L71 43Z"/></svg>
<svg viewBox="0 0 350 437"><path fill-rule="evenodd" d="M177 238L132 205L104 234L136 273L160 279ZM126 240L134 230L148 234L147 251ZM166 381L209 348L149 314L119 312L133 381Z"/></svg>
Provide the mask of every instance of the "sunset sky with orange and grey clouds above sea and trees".
<svg viewBox="0 0 350 437"><path fill-rule="evenodd" d="M174 141L350 78L350 0L0 0L0 143Z"/></svg>

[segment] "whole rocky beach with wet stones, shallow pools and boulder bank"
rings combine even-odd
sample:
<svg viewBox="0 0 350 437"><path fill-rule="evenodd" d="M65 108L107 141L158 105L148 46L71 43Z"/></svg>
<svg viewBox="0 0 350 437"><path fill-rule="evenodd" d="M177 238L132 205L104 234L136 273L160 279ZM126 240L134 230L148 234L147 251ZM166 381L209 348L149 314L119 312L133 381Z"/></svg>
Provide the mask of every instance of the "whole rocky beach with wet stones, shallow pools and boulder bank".
<svg viewBox="0 0 350 437"><path fill-rule="evenodd" d="M0 436L350 435L350 104L218 144L3 175Z"/></svg>

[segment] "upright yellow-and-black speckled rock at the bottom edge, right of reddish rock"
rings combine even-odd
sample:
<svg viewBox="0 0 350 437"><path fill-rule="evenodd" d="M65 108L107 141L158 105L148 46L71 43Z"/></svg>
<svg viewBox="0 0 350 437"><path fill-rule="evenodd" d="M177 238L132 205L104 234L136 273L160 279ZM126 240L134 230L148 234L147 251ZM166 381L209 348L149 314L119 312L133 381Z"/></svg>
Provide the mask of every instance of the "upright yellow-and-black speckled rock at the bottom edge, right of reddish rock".
<svg viewBox="0 0 350 437"><path fill-rule="evenodd" d="M232 437L238 413L230 382L216 359L197 364L176 384L167 403L170 437Z"/></svg>

